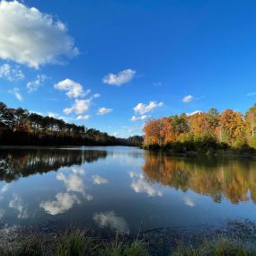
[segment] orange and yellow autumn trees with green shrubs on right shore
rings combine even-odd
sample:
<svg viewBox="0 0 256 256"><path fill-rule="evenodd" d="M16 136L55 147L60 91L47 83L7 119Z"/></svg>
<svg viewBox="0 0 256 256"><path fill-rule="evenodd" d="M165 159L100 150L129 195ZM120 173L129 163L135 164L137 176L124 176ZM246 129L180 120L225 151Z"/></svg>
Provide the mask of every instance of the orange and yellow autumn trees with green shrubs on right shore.
<svg viewBox="0 0 256 256"><path fill-rule="evenodd" d="M149 119L144 127L144 147L173 153L211 154L217 151L254 154L256 104L245 114L235 110L181 114Z"/></svg>

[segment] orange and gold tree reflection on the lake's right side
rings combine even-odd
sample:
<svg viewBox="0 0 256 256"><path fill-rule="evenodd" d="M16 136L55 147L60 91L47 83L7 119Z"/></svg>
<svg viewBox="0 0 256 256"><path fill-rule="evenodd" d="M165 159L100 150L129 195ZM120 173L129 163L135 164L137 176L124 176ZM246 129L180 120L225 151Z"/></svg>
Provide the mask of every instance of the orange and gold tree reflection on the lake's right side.
<svg viewBox="0 0 256 256"><path fill-rule="evenodd" d="M218 158L173 158L165 154L145 154L142 170L148 181L176 190L193 190L216 202L233 204L252 199L256 203L256 163Z"/></svg>

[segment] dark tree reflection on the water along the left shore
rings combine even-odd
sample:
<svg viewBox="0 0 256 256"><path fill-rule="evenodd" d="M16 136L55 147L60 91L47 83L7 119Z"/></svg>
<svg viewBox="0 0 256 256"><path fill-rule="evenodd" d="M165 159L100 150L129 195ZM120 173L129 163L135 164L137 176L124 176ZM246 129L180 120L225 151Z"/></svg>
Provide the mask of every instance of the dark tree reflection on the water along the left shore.
<svg viewBox="0 0 256 256"><path fill-rule="evenodd" d="M93 163L107 157L103 150L10 149L0 150L0 181L16 181L61 167Z"/></svg>

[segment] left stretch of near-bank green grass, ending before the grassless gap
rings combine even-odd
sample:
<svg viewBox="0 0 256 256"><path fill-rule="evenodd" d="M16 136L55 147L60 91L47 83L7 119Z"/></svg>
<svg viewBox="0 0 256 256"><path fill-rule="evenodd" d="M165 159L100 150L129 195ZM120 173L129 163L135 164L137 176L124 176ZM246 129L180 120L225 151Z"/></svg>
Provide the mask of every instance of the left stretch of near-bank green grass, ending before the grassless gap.
<svg viewBox="0 0 256 256"><path fill-rule="evenodd" d="M148 244L134 239L124 242L117 235L113 241L102 241L84 230L66 230L57 236L27 234L11 246L0 249L1 256L146 256Z"/></svg>

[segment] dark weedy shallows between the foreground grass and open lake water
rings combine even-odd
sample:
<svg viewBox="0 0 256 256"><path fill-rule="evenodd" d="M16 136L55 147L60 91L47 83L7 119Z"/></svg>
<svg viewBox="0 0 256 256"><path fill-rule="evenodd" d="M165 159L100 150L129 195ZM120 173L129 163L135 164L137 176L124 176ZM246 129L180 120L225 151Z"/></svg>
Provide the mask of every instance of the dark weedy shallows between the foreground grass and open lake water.
<svg viewBox="0 0 256 256"><path fill-rule="evenodd" d="M69 228L68 232L72 233L77 230ZM59 239L62 239L66 232L67 230L57 229L54 225L51 226L51 224L40 226L3 225L0 227L0 252L3 251L2 247L18 250L21 246L20 243L31 237L35 238L36 241L40 241L44 246L53 248L57 246L57 242ZM219 238L227 240L235 238L235 241L237 240L242 244L256 246L256 223L247 219L227 220L224 225L218 228L205 225L198 230L166 227L141 231L137 234L118 234L110 229L86 230L85 228L80 228L79 232L89 235L99 244L112 244L118 240L119 243L125 245L134 241L140 241L146 244L147 255L154 256L171 255L170 253L174 252L181 244L183 246L196 247L206 241L214 241Z"/></svg>

